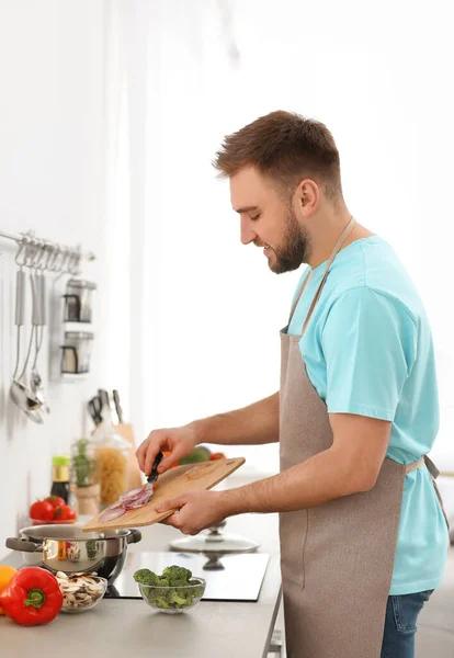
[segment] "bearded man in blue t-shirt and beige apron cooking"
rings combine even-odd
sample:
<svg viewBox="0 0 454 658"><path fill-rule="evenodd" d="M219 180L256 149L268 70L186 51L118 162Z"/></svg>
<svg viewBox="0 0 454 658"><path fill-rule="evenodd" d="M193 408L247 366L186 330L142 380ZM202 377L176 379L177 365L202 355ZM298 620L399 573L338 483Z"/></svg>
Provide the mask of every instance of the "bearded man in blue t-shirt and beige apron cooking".
<svg viewBox="0 0 454 658"><path fill-rule="evenodd" d="M241 241L262 247L275 273L309 265L281 332L281 389L155 430L139 465L148 474L170 451L163 472L208 441L280 441L279 475L192 491L159 511L177 510L167 522L188 534L232 514L281 513L291 658L410 658L449 544L424 460L439 409L422 303L393 249L351 216L325 125L273 112L226 137L215 166L230 180Z"/></svg>

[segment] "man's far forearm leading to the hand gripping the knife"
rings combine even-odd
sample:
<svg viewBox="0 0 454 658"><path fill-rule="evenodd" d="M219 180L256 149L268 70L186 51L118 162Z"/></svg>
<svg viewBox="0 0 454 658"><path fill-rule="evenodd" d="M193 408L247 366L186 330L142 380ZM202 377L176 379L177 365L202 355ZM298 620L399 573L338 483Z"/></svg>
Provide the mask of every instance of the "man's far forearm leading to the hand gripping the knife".
<svg viewBox="0 0 454 658"><path fill-rule="evenodd" d="M191 423L200 443L253 445L279 441L279 393L259 402Z"/></svg>

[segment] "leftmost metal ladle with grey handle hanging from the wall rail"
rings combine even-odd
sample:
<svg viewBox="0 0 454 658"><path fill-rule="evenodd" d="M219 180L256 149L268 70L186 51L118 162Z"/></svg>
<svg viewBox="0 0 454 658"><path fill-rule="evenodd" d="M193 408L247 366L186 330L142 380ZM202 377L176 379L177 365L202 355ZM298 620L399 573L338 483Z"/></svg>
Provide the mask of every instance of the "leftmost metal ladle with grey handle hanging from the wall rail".
<svg viewBox="0 0 454 658"><path fill-rule="evenodd" d="M26 368L30 362L30 355L32 351L33 337L34 337L34 327L32 327L31 331L31 340L29 344L29 352L25 359L24 367L22 373L18 375L19 363L21 359L21 328L24 324L24 307L25 307L25 273L22 270L18 270L16 273L16 290L15 290L15 326L18 327L18 349L16 349L16 361L15 368L13 374L13 381L10 388L10 396L13 402L22 409L22 411L33 411L34 409L39 409L42 406L41 400L34 395L34 393L29 388L25 378ZM33 417L33 420L36 422L42 422L38 420L39 417Z"/></svg>

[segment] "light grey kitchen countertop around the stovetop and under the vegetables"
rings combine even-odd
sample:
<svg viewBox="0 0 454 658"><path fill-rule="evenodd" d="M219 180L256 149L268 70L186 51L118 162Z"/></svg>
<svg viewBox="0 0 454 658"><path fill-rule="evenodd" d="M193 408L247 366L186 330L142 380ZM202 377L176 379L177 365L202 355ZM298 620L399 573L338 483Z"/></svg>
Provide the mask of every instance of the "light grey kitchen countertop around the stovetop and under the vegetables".
<svg viewBox="0 0 454 658"><path fill-rule="evenodd" d="M234 474L228 486L246 479L258 478ZM132 544L129 552L168 551L168 542L182 536L162 524L140 531L141 542ZM1 655L44 657L57 651L66 658L80 658L89 650L109 658L123 658L125 653L135 658L265 658L281 601L277 515L235 517L228 519L224 532L256 540L261 544L259 551L270 554L258 602L202 601L190 613L166 615L151 611L141 600L105 599L91 611L60 613L52 624L27 628L0 616ZM21 557L13 553L2 561L14 566Z"/></svg>

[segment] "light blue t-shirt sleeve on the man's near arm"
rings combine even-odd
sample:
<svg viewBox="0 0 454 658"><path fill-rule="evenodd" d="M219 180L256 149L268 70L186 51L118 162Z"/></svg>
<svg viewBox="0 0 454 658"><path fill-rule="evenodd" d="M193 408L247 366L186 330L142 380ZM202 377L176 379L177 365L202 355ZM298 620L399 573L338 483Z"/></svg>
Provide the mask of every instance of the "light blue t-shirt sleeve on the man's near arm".
<svg viewBox="0 0 454 658"><path fill-rule="evenodd" d="M328 411L394 420L417 356L417 327L404 304L366 286L343 293L321 345Z"/></svg>

